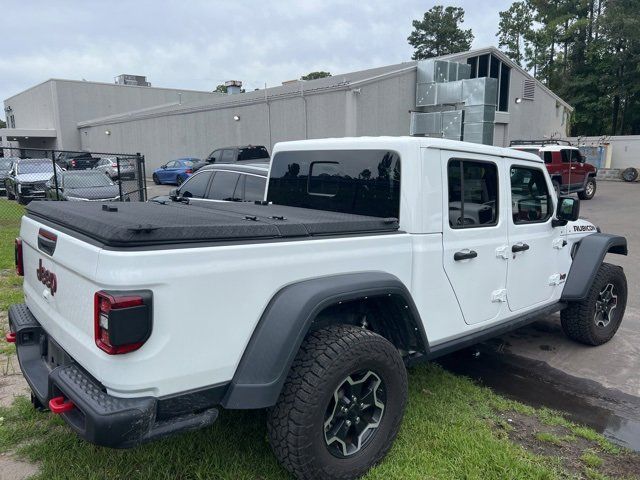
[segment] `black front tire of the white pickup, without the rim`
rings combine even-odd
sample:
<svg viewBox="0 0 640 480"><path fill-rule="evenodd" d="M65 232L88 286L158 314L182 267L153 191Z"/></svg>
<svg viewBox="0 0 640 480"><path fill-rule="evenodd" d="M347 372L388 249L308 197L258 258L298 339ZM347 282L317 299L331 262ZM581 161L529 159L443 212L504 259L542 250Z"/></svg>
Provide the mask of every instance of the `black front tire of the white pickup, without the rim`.
<svg viewBox="0 0 640 480"><path fill-rule="evenodd" d="M600 293L613 285L617 295L617 305L606 326L598 326L595 321L596 302ZM624 310L627 306L627 278L622 267L603 263L600 265L596 278L591 285L587 298L580 302L570 302L562 310L560 319L562 330L567 337L585 345L602 345L613 338L618 331Z"/></svg>

